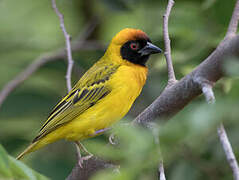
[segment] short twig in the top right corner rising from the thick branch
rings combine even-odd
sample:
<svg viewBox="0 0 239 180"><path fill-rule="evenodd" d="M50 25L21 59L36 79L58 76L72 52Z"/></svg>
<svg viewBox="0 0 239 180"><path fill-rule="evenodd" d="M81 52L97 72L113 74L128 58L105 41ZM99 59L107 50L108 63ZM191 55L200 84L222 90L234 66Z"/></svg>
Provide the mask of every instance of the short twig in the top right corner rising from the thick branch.
<svg viewBox="0 0 239 180"><path fill-rule="evenodd" d="M233 10L233 14L230 20L230 24L227 29L226 37L234 36L237 32L238 27L238 21L239 21L239 0L237 0L235 8Z"/></svg>

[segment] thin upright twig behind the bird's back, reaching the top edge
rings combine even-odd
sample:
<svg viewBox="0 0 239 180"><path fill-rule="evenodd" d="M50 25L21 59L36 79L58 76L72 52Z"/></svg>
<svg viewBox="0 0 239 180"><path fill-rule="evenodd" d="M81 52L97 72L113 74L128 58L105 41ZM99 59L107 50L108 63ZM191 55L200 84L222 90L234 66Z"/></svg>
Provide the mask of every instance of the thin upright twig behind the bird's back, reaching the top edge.
<svg viewBox="0 0 239 180"><path fill-rule="evenodd" d="M73 69L73 64L74 64L74 61L72 59L72 52L71 52L71 37L66 31L66 27L64 24L64 16L58 10L58 8L56 6L56 1L51 0L51 3L52 3L52 8L54 9L54 11L56 12L57 16L60 19L60 27L65 36L67 60L68 60L68 67L67 67L67 72L66 72L66 84L67 84L67 90L69 92L71 90L71 74L72 74L72 69Z"/></svg>

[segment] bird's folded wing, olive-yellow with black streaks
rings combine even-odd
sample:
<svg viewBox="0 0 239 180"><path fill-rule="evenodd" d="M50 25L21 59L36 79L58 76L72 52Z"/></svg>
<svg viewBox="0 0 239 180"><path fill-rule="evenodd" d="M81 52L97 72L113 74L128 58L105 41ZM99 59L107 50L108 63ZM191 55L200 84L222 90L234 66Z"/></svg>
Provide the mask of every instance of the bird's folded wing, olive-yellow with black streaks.
<svg viewBox="0 0 239 180"><path fill-rule="evenodd" d="M112 64L95 64L56 105L33 142L70 122L108 95L111 92L108 81L117 69L118 66Z"/></svg>

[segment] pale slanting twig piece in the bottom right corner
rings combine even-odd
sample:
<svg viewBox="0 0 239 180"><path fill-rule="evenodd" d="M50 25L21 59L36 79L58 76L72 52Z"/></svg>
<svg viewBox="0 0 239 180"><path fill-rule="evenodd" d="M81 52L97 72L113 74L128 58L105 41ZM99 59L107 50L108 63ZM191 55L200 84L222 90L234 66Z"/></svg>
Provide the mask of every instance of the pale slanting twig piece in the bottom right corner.
<svg viewBox="0 0 239 180"><path fill-rule="evenodd" d="M220 141L221 141L222 147L224 149L224 152L226 154L227 161L228 161L229 165L231 166L234 180L239 180L238 163L237 163L236 157L233 153L231 144L229 142L229 139L227 137L227 133L224 129L223 124L220 124L220 126L217 129L217 132L218 132L218 136L220 137Z"/></svg>

